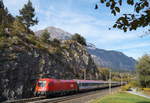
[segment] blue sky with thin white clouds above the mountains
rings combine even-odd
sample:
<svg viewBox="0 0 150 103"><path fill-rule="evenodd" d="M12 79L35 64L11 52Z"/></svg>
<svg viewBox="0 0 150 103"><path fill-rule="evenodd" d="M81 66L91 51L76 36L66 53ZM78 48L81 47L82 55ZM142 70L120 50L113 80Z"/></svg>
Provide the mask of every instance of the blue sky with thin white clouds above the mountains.
<svg viewBox="0 0 150 103"><path fill-rule="evenodd" d="M9 12L16 16L28 0L3 1ZM39 20L38 25L32 27L33 31L54 26L72 34L80 33L97 48L120 51L135 59L150 52L150 35L141 37L145 28L127 33L118 29L109 30L122 13L133 12L130 6L123 5L121 14L113 16L104 5L94 9L99 0L31 1Z"/></svg>

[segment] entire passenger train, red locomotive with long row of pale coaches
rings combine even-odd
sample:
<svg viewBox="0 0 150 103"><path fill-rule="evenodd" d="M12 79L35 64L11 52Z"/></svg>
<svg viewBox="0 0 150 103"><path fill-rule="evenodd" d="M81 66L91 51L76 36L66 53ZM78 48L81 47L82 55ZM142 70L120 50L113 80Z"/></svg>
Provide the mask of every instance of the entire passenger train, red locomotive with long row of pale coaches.
<svg viewBox="0 0 150 103"><path fill-rule="evenodd" d="M124 84L124 83L123 83ZM35 96L52 96L108 88L110 83L101 80L61 80L54 78L41 78L37 80ZM120 86L120 82L111 82L112 87Z"/></svg>

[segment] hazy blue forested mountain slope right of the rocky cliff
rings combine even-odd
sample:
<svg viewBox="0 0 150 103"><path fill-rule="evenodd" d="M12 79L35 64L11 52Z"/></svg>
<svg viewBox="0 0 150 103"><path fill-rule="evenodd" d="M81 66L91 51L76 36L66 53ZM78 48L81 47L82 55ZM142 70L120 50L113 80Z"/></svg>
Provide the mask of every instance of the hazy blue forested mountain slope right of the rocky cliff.
<svg viewBox="0 0 150 103"><path fill-rule="evenodd" d="M98 49L94 45L88 45L87 50L92 55L98 67L108 67L117 71L133 71L136 60L117 51Z"/></svg>

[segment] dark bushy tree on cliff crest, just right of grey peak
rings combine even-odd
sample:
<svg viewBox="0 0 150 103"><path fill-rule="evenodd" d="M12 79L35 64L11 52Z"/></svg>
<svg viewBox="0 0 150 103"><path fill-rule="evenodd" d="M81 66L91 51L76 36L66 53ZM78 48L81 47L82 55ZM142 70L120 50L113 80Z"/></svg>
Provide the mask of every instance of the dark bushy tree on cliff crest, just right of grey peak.
<svg viewBox="0 0 150 103"><path fill-rule="evenodd" d="M72 40L75 40L77 41L78 43L80 43L81 45L87 45L86 44L86 40L84 39L84 37L82 37L80 34L78 33L75 33L73 36L72 36Z"/></svg>

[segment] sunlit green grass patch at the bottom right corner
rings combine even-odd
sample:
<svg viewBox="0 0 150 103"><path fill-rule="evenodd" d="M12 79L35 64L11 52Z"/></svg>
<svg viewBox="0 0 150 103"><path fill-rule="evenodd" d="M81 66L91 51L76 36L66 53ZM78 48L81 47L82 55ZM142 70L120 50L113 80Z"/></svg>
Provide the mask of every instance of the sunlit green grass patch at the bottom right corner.
<svg viewBox="0 0 150 103"><path fill-rule="evenodd" d="M120 92L103 97L92 103L150 103L150 99L125 92Z"/></svg>

